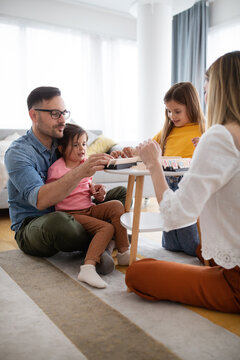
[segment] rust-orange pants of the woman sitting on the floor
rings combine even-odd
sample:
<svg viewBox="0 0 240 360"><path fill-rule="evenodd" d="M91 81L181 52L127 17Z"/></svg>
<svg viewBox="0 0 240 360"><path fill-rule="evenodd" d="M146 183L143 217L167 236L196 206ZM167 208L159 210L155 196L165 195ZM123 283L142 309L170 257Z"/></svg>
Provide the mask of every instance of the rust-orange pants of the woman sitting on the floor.
<svg viewBox="0 0 240 360"><path fill-rule="evenodd" d="M129 266L128 288L152 301L169 300L222 312L240 312L240 268L143 259Z"/></svg>

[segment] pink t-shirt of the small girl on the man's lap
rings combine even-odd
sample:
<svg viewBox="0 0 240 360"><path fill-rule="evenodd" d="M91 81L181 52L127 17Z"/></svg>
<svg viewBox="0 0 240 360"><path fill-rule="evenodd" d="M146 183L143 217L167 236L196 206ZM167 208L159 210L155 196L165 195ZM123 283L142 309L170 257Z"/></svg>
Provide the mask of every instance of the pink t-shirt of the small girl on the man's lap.
<svg viewBox="0 0 240 360"><path fill-rule="evenodd" d="M83 160L82 162L84 162L85 160ZM58 180L70 170L71 169L66 167L63 158L58 159L48 169L47 183ZM77 185L77 187L71 192L71 194L69 194L63 201L55 204L55 209L59 211L81 210L87 209L90 206L94 205L91 200L91 183L92 177L86 177L82 179Z"/></svg>

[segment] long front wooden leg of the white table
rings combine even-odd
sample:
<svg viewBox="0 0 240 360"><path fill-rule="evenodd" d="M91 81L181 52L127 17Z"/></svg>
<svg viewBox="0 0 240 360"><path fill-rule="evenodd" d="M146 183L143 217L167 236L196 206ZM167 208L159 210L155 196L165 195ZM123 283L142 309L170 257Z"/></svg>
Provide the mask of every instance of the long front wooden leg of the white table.
<svg viewBox="0 0 240 360"><path fill-rule="evenodd" d="M133 209L132 240L131 240L129 265L131 265L134 261L136 261L136 257L137 257L137 245L138 245L139 223L140 223L140 215L141 215L141 207L142 207L143 183L144 183L144 176L137 176L135 203Z"/></svg>

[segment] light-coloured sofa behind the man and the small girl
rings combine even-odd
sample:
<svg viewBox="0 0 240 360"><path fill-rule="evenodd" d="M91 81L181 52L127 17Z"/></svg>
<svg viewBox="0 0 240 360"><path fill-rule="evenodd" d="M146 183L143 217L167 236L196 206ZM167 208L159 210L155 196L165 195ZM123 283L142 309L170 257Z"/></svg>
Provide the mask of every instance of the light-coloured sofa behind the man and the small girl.
<svg viewBox="0 0 240 360"><path fill-rule="evenodd" d="M26 129L0 129L0 162L4 161L4 153L12 141L19 136L26 133ZM87 130L88 132L88 155L92 155L97 152L110 153L113 150L121 150L124 146L135 146L136 142L129 144L126 142L116 143L112 139L105 137L101 130ZM7 177L5 172L1 172L1 182L3 189L0 189L0 209L8 208L8 194L7 194ZM127 175L114 175L104 171L98 171L93 176L93 182L96 184L104 184L107 190L110 190L116 186L127 187L128 177ZM150 176L145 177L143 197L149 198L155 196L152 180Z"/></svg>

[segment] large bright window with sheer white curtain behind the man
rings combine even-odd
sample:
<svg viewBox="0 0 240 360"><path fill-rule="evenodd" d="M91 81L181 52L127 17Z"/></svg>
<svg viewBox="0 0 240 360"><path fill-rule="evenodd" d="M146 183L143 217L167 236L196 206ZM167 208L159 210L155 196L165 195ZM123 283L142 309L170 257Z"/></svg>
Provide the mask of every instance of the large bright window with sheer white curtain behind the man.
<svg viewBox="0 0 240 360"><path fill-rule="evenodd" d="M26 98L49 85L81 126L138 140L136 42L0 17L0 49L1 127L29 128Z"/></svg>

